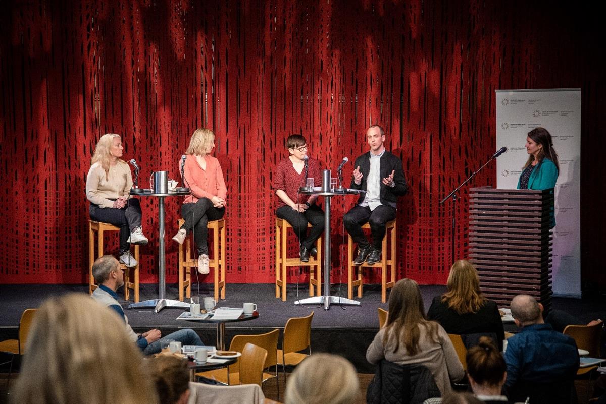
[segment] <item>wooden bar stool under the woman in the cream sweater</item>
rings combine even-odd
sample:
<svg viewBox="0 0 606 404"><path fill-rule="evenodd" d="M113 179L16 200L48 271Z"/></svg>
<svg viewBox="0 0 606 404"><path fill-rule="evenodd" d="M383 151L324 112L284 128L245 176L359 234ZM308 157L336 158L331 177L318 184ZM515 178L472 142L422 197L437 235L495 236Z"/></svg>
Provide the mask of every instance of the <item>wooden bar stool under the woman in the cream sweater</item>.
<svg viewBox="0 0 606 404"><path fill-rule="evenodd" d="M119 227L109 223L102 223L99 221L88 220L88 293L92 294L93 290L99 287L95 284L95 278L93 278L93 264L95 259L104 255L103 253L103 232L120 231ZM97 237L97 255L95 256L95 235ZM135 254L133 255L137 261L136 266L127 267L120 262L120 267L124 270L124 300L130 299L130 289L135 292L135 303L139 302L139 246L135 246ZM134 281L131 278L131 271L133 272Z"/></svg>

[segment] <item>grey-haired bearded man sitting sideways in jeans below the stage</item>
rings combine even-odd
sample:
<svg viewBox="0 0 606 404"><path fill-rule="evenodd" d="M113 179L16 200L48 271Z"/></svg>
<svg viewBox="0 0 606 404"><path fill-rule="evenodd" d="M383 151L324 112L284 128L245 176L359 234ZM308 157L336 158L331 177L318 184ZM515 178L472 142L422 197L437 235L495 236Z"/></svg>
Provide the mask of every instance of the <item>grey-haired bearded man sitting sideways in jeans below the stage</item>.
<svg viewBox="0 0 606 404"><path fill-rule="evenodd" d="M124 285L124 273L120 269L120 263L112 255L104 255L96 259L93 264L93 278L99 284L99 287L93 292L93 299L118 313L124 321L128 339L135 342L144 354L158 353L161 350L160 341L163 339L179 341L183 345L204 345L198 334L191 328L183 328L165 337L162 337L160 330L156 329L136 334L128 324L128 318L118 302L116 290Z"/></svg>

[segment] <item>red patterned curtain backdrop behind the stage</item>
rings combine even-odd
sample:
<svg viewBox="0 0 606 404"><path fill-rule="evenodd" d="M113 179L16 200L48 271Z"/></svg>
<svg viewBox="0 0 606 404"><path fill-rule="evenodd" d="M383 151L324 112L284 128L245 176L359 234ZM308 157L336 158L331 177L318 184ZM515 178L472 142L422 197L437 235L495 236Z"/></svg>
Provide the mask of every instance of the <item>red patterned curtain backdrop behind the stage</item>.
<svg viewBox="0 0 606 404"><path fill-rule="evenodd" d="M287 155L285 138L304 134L310 154L335 169L342 157L367 150L365 128L380 123L410 184L398 205L399 276L444 283L451 210L439 200L494 152L494 90L502 88L582 88L582 203L593 212L583 213L582 243L590 267L605 241L593 229L604 223L605 195L592 188L604 183L603 37L590 6L573 7L584 6L3 2L0 281L87 281L84 181L101 134L124 135L124 157L141 163L146 181L160 169L176 177L191 133L208 126L228 183L228 282L273 282L270 183ZM346 166L346 178L352 169ZM494 185L494 169L488 166L473 185ZM461 197L457 257L467 251L467 189ZM342 213L354 200L333 204L335 269ZM167 201L168 281L176 278L170 236L178 203ZM142 280L156 282L158 207L148 199L142 206L151 240L141 249ZM596 270L584 278L602 279Z"/></svg>

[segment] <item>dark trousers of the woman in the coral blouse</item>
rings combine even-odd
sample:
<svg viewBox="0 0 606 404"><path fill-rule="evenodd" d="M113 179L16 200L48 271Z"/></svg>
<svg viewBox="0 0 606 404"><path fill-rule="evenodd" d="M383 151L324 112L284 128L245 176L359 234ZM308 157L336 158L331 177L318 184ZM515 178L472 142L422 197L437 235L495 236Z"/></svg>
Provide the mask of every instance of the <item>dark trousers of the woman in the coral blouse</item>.
<svg viewBox="0 0 606 404"><path fill-rule="evenodd" d="M208 255L208 222L219 220L225 215L224 207L215 207L208 198L200 198L196 203L184 203L181 206L181 216L185 223L181 229L191 232L196 242L198 255Z"/></svg>

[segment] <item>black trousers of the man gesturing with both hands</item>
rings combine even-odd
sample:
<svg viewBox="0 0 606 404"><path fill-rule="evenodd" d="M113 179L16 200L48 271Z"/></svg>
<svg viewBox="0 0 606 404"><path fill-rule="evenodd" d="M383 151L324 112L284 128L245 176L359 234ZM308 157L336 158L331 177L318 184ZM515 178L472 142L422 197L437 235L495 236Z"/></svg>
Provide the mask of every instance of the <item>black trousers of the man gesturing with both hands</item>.
<svg viewBox="0 0 606 404"><path fill-rule="evenodd" d="M385 237L385 224L396 218L396 208L389 205L377 206L370 210L368 206L356 205L345 213L345 229L358 247L367 247L368 239L364 235L362 225L370 223L370 233L373 236L373 247L381 250L383 238Z"/></svg>

